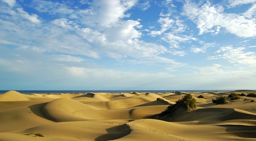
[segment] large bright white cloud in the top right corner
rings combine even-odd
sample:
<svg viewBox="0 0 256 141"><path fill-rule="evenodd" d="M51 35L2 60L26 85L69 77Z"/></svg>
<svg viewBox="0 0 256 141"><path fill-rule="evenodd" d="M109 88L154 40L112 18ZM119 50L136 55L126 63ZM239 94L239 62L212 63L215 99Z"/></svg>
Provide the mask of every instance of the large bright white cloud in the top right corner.
<svg viewBox="0 0 256 141"><path fill-rule="evenodd" d="M212 6L210 2L199 6L188 1L184 4L184 14L197 24L199 35L219 34L220 29L225 28L226 31L238 37L256 36L255 17L246 18L246 15L224 13L222 6Z"/></svg>

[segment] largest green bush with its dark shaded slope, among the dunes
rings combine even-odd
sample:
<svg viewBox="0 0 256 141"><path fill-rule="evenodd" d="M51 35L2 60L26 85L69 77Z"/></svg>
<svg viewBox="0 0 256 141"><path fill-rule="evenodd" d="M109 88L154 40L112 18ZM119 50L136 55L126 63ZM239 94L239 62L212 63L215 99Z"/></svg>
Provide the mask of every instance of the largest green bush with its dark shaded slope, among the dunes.
<svg viewBox="0 0 256 141"><path fill-rule="evenodd" d="M187 111L191 111L196 108L196 99L189 93L183 96L182 99L176 101L176 104L169 105L160 116L166 115L168 113L174 113L178 108L184 107Z"/></svg>

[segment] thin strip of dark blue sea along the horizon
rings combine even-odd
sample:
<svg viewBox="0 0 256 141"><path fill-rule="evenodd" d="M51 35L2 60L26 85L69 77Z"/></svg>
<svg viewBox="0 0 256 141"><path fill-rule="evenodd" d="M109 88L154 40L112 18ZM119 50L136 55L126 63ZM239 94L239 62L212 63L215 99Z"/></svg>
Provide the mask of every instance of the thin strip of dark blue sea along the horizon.
<svg viewBox="0 0 256 141"><path fill-rule="evenodd" d="M10 90L0 90L0 94L6 93ZM150 93L168 93L173 91L182 91L182 92L211 92L211 91L234 91L231 89L225 90L15 90L23 94L33 94L33 93L130 93L130 92L150 92Z"/></svg>

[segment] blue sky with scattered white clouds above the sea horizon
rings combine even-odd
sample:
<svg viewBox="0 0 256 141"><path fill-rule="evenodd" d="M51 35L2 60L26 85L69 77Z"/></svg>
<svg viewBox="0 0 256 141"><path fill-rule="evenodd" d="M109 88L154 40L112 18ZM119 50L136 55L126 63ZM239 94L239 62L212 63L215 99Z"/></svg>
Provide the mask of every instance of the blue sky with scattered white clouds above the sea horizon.
<svg viewBox="0 0 256 141"><path fill-rule="evenodd" d="M256 89L256 0L0 0L0 90Z"/></svg>

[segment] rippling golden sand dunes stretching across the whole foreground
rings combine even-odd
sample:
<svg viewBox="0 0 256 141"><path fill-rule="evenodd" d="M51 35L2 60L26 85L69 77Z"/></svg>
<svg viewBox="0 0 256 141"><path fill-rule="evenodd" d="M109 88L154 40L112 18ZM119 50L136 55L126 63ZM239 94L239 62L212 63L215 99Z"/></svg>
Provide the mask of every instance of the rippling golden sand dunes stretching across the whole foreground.
<svg viewBox="0 0 256 141"><path fill-rule="evenodd" d="M255 141L256 97L231 101L230 93L256 91L191 92L194 111L161 117L186 93L8 91L0 95L0 141ZM228 104L212 103L220 95Z"/></svg>

